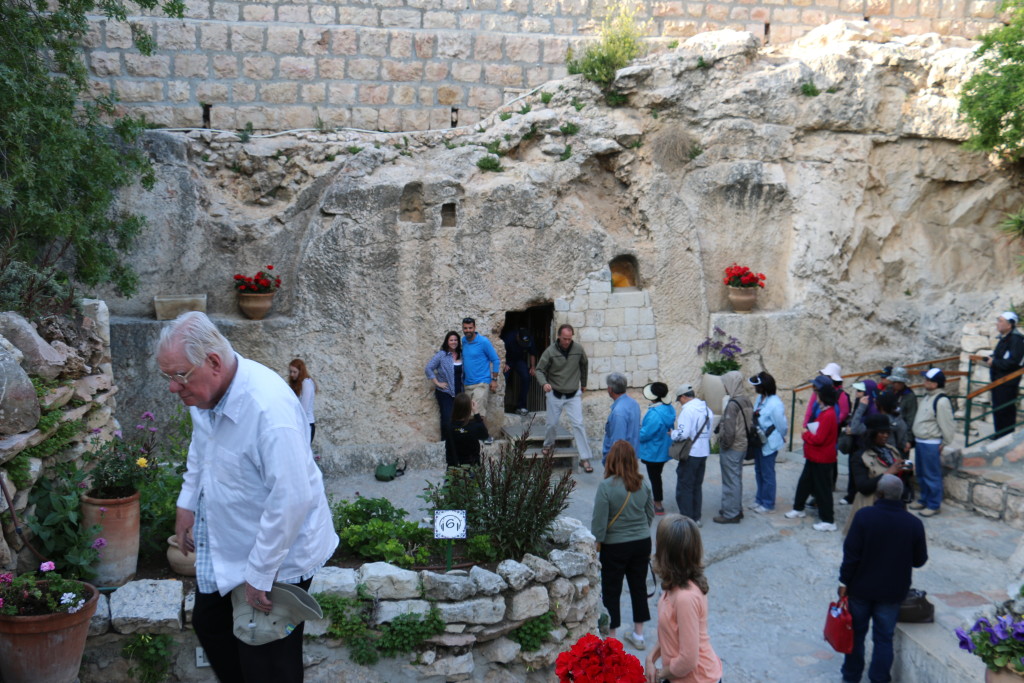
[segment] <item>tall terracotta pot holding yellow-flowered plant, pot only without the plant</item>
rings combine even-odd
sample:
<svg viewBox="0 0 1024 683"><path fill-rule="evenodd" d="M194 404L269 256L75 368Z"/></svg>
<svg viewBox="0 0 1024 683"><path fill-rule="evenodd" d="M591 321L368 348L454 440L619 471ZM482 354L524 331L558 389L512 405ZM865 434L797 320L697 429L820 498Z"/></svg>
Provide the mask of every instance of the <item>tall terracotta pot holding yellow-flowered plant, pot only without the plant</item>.
<svg viewBox="0 0 1024 683"><path fill-rule="evenodd" d="M99 524L97 538L105 542L94 567L96 585L115 588L134 579L138 566L138 492L128 498L82 496L82 523Z"/></svg>

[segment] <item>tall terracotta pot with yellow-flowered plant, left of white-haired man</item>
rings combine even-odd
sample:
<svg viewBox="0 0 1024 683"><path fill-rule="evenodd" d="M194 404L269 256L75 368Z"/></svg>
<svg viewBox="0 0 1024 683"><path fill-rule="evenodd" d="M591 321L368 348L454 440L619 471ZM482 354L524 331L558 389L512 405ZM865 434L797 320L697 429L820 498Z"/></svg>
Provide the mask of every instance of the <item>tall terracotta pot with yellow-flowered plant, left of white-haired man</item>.
<svg viewBox="0 0 1024 683"><path fill-rule="evenodd" d="M99 551L94 581L101 587L123 586L138 566L139 486L157 471L157 427L146 411L125 437L120 430L86 457L91 482L82 495L82 523L95 524Z"/></svg>

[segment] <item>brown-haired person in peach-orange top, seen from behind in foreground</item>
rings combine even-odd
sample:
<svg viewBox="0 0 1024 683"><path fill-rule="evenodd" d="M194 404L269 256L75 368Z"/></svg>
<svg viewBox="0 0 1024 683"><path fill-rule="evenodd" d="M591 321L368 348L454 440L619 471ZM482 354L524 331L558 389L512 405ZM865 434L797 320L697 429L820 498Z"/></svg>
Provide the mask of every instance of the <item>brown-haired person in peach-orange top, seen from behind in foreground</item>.
<svg viewBox="0 0 1024 683"><path fill-rule="evenodd" d="M722 660L708 637L709 589L700 530L689 517L669 515L657 525L654 541L653 566L663 592L657 601L657 643L644 667L647 683L718 683Z"/></svg>

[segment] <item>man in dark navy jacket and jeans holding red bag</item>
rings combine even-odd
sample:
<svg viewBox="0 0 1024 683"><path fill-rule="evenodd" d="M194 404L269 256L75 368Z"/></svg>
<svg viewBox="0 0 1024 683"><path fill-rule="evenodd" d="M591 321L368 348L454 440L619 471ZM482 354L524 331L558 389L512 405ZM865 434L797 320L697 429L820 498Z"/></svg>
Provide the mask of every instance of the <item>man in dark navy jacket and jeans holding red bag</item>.
<svg viewBox="0 0 1024 683"><path fill-rule="evenodd" d="M864 638L871 623L871 683L892 680L893 633L899 605L910 590L914 567L928 561L925 525L907 512L900 497L903 482L892 474L879 479L880 499L857 511L843 544L839 594L853 615L853 651L843 661L843 681L857 683L864 673Z"/></svg>

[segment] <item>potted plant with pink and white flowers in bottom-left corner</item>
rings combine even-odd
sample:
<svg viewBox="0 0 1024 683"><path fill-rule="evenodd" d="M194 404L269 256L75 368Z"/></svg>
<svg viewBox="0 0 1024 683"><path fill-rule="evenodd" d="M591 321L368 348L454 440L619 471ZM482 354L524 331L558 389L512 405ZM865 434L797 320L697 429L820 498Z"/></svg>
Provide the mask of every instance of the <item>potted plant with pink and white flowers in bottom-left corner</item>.
<svg viewBox="0 0 1024 683"><path fill-rule="evenodd" d="M71 683L99 592L62 579L53 562L39 572L0 573L0 676L6 683Z"/></svg>

